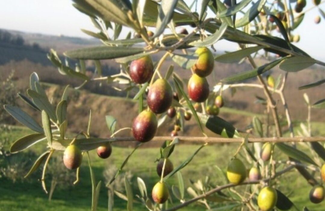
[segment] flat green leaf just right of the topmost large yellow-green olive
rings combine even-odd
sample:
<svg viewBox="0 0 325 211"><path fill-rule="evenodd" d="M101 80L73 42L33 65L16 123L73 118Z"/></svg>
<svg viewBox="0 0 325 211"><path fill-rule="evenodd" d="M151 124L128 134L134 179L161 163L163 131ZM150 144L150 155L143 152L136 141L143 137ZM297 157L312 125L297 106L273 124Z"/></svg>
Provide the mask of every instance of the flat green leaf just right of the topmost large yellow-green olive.
<svg viewBox="0 0 325 211"><path fill-rule="evenodd" d="M246 56L249 56L263 48L264 48L263 46L249 47L231 53L223 54L221 56L217 56L215 57L214 60L223 63L239 62L241 59L245 58Z"/></svg>

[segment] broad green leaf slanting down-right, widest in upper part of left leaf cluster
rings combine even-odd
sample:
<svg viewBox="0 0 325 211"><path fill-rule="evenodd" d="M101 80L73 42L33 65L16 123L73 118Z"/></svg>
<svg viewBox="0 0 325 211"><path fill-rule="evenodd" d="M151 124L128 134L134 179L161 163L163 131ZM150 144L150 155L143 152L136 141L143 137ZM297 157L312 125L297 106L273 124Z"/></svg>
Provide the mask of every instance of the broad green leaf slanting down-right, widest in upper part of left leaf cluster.
<svg viewBox="0 0 325 211"><path fill-rule="evenodd" d="M40 95L39 93L34 92L32 90L27 90L27 94L33 99L33 102L36 104L36 106L39 109L45 110L47 115L52 120L57 121L57 116L55 114L54 107L48 101L47 97L44 97L44 96Z"/></svg>

